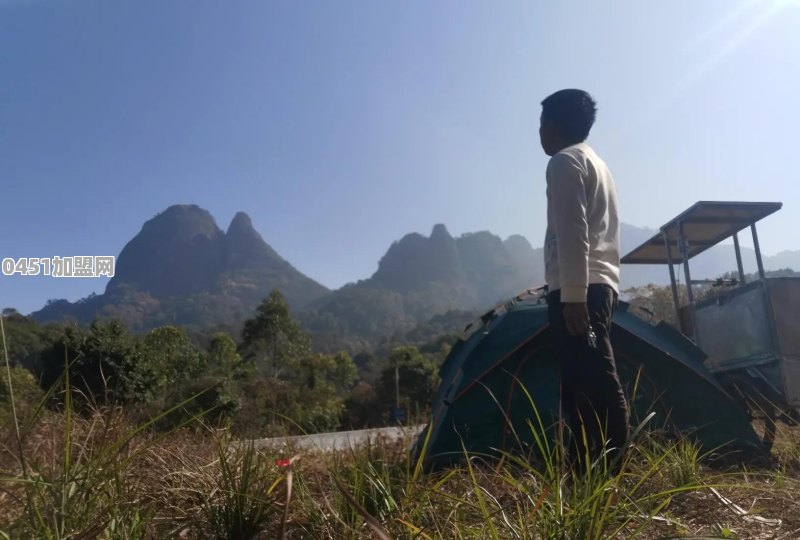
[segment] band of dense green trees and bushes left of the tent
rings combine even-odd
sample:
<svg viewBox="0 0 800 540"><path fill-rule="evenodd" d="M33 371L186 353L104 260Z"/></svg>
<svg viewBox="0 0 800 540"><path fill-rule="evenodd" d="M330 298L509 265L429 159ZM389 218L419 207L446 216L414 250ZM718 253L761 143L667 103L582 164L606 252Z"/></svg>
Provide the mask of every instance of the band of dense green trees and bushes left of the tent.
<svg viewBox="0 0 800 540"><path fill-rule="evenodd" d="M466 317L452 319L460 326ZM398 335L360 355L357 367L345 351L315 350L277 290L244 322L238 341L228 332L172 325L135 334L117 319L43 326L6 310L3 320L13 344L14 386L30 402L52 388L49 404L60 408L68 383L78 410L87 413L116 406L152 417L174 408L160 426L204 416L253 436L384 424L397 405L397 382L401 405L423 414L449 350L449 338L436 332L452 326L440 316L428 329L415 328L410 340ZM0 388L0 407L7 393Z"/></svg>

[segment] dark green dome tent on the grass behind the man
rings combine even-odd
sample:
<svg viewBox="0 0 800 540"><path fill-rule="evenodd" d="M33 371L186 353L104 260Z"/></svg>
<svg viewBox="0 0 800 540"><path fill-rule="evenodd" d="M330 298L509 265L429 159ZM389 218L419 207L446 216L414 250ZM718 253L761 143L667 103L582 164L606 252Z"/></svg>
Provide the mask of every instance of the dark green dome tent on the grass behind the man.
<svg viewBox="0 0 800 540"><path fill-rule="evenodd" d="M555 441L560 370L547 306L520 298L482 317L442 365L418 443L427 438L429 465L460 461L464 449L495 456L533 450L531 426ZM655 412L651 429L689 436L705 451L762 449L745 411L703 365L705 354L677 330L651 325L621 302L611 339L634 426Z"/></svg>

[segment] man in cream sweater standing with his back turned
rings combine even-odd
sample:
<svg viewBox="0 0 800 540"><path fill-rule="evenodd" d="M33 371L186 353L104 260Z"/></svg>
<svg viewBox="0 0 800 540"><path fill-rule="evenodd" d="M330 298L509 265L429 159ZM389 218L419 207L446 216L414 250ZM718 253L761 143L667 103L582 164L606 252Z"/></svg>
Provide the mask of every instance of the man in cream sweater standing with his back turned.
<svg viewBox="0 0 800 540"><path fill-rule="evenodd" d="M614 179L586 144L597 112L583 90L542 101L539 137L547 164L545 279L562 407L579 471L605 448L622 449L628 408L609 341L619 294L619 218ZM584 442L584 434L588 448Z"/></svg>

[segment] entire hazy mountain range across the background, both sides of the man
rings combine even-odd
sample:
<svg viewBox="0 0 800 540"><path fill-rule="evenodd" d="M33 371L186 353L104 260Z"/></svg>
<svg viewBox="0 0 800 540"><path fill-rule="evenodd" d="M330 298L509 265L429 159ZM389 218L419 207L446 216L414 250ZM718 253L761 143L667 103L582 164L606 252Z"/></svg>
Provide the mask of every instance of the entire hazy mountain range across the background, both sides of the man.
<svg viewBox="0 0 800 540"><path fill-rule="evenodd" d="M655 233L623 224L623 254ZM743 249L743 257L753 271L753 250ZM764 263L773 270L800 268L800 251ZM718 277L735 267L732 246L716 246L692 260L692 276ZM623 289L668 282L661 266L624 266L621 275ZM329 291L270 247L247 214L237 213L223 232L207 210L175 205L125 245L104 294L49 301L32 316L83 323L116 317L137 331L163 324L236 329L277 288L318 343L367 345L437 315L487 309L543 282L542 248L525 237L503 240L488 231L453 237L437 224L430 236L410 233L392 243L371 277Z"/></svg>

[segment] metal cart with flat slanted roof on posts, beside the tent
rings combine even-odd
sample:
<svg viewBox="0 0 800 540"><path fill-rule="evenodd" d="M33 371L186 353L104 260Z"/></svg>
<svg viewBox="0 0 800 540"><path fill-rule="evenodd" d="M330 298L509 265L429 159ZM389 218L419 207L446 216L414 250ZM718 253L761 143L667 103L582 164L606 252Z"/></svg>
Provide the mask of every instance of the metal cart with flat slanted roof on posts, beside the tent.
<svg viewBox="0 0 800 540"><path fill-rule="evenodd" d="M661 227L622 258L623 264L666 264L681 331L708 355L706 365L752 412L774 420L800 419L800 278L767 278L756 222L777 212L779 202L701 201ZM750 229L758 278L746 281L739 233ZM694 279L689 261L733 238L736 278ZM675 265L683 265L687 303L681 305ZM732 265L731 265L732 266ZM712 285L698 298L697 285ZM771 431L771 433L770 433Z"/></svg>

